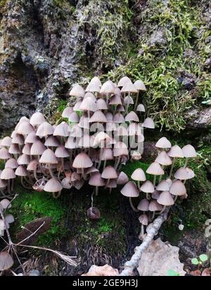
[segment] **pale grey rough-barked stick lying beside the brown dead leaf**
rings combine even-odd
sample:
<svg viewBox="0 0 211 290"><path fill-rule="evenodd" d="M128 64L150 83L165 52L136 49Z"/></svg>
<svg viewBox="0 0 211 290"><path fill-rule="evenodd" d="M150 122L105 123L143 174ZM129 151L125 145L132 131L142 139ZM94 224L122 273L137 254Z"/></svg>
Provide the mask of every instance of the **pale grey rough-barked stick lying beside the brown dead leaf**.
<svg viewBox="0 0 211 290"><path fill-rule="evenodd" d="M143 239L143 242L140 246L137 246L135 248L135 253L132 256L132 258L127 261L124 264L124 270L120 273L120 276L132 276L133 271L136 267L139 266L139 261L141 259L141 255L143 251L148 248L148 246L151 244L151 241L153 241L153 238L155 237L155 234L157 234L158 230L160 229L162 222L167 220L167 213L168 209L166 209L161 215L159 215L149 226L148 231L146 234L146 237Z"/></svg>

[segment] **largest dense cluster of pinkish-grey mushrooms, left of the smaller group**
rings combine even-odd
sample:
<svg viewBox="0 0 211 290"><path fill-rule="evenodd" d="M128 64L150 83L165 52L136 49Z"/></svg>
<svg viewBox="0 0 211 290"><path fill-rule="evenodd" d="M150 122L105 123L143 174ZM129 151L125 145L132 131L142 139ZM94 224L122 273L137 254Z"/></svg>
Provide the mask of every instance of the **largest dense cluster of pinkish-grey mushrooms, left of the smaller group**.
<svg viewBox="0 0 211 290"><path fill-rule="evenodd" d="M72 87L76 103L63 111L66 122L51 125L39 112L21 118L11 137L0 141L5 162L1 198L12 197L15 177L23 187L51 192L55 198L62 189L81 189L84 182L96 194L99 187L112 191L122 184L126 177L120 175L121 164L141 158L143 127L155 127L151 118L140 120L145 108L138 100L144 91L141 80L132 83L122 77L118 84L101 84L94 77L85 90L79 84Z"/></svg>

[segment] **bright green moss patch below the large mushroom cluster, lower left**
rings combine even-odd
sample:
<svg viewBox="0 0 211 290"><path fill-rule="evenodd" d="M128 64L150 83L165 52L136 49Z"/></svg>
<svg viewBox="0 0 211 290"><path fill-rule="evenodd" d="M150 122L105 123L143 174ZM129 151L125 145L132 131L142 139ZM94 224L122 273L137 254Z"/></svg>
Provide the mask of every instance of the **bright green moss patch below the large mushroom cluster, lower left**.
<svg viewBox="0 0 211 290"><path fill-rule="evenodd" d="M39 237L37 244L51 245L64 237L68 206L63 199L56 200L46 192L26 191L18 184L15 185L15 192L19 194L11 208L11 213L15 217L15 232L18 232L27 222L48 216L52 217L51 228Z"/></svg>

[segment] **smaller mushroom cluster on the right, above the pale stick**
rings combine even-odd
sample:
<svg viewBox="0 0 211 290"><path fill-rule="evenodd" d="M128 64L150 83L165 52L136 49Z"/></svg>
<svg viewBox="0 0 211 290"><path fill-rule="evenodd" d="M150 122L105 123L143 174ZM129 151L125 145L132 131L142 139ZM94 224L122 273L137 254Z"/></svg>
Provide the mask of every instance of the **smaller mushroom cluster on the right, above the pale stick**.
<svg viewBox="0 0 211 290"><path fill-rule="evenodd" d="M181 199L188 197L185 183L186 180L195 176L193 170L187 167L188 158L197 156L196 150L191 144L181 149L177 145L172 146L166 137L162 137L155 146L158 149L158 156L146 170L148 175L153 176L153 182L146 180L145 172L141 168L137 168L131 176L134 181L127 182L120 191L124 196L129 197L133 210L143 212L139 217L140 238L143 238L144 226L147 226L155 215L159 215L167 207L173 206L178 196ZM184 167L176 170L173 175L174 163L177 158L185 158ZM169 168L169 166L171 167ZM138 197L140 193L143 198L136 208L132 203L132 198Z"/></svg>

